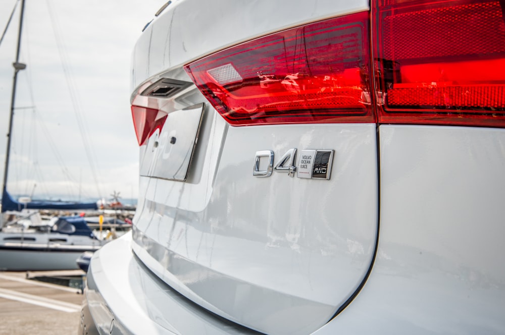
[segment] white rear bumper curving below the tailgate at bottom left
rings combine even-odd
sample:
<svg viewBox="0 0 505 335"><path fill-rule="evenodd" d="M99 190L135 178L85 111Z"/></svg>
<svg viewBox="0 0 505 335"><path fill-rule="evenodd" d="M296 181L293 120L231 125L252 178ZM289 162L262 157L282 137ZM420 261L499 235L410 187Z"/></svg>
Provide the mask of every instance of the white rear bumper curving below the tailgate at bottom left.
<svg viewBox="0 0 505 335"><path fill-rule="evenodd" d="M190 302L151 273L131 251L131 233L91 259L78 333L256 333Z"/></svg>

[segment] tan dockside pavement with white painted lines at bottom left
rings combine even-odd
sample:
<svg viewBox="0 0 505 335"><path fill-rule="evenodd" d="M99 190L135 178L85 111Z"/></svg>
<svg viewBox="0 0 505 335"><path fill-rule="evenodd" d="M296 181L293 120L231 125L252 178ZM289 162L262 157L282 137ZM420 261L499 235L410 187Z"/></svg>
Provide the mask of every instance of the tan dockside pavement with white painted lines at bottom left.
<svg viewBox="0 0 505 335"><path fill-rule="evenodd" d="M0 271L0 335L77 334L83 298L80 290L27 277L82 274L81 270Z"/></svg>

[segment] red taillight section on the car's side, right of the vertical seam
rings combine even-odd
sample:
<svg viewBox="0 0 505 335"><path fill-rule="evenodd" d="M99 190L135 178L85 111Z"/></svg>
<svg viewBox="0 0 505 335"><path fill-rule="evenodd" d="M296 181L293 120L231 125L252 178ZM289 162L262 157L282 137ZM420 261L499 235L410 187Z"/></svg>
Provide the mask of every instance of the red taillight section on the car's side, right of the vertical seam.
<svg viewBox="0 0 505 335"><path fill-rule="evenodd" d="M502 1L372 3L379 122L505 127Z"/></svg>

